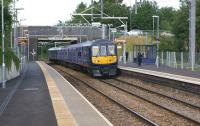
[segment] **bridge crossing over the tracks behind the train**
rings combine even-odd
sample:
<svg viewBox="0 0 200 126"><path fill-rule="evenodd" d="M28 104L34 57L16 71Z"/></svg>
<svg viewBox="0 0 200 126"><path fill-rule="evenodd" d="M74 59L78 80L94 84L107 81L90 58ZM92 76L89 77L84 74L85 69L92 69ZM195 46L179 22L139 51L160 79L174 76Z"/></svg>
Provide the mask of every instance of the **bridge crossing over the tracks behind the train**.
<svg viewBox="0 0 200 126"><path fill-rule="evenodd" d="M38 59L39 51L41 52L39 47L43 43L50 43L51 46L57 46L58 44L72 44L99 39L102 37L102 30L101 28L87 25L21 26L17 29L17 37L27 37L29 40L29 57L32 60L33 56L31 54L33 51L36 52L35 59ZM26 51L28 51L28 48Z"/></svg>

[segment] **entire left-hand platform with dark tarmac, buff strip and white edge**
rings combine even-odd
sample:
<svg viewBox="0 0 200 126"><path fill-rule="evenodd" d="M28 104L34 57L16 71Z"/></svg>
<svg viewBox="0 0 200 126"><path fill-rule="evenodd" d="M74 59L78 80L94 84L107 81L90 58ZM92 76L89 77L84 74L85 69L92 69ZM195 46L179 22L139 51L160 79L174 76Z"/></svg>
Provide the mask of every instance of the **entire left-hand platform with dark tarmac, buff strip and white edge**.
<svg viewBox="0 0 200 126"><path fill-rule="evenodd" d="M0 88L1 126L112 126L65 78L44 62Z"/></svg>

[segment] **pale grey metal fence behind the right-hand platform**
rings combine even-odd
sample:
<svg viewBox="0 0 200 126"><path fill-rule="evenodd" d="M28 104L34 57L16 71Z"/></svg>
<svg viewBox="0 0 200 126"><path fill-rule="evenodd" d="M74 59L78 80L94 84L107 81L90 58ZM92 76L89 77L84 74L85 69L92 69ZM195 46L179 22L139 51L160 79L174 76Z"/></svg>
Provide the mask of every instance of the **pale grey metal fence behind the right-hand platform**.
<svg viewBox="0 0 200 126"><path fill-rule="evenodd" d="M159 52L161 65L168 67L192 70L188 52ZM194 70L200 71L200 53L196 53Z"/></svg>

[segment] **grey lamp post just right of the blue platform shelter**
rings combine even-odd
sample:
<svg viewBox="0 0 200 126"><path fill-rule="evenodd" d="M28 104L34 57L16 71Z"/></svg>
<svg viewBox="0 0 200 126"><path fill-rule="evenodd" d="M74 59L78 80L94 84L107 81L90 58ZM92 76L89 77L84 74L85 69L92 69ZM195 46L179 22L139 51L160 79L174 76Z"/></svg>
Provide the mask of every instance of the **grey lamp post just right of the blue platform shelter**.
<svg viewBox="0 0 200 126"><path fill-rule="evenodd" d="M153 15L153 32L154 32L154 18L157 18L157 35L156 35L156 45L157 45L157 55L156 55L156 66L159 68L159 16Z"/></svg>

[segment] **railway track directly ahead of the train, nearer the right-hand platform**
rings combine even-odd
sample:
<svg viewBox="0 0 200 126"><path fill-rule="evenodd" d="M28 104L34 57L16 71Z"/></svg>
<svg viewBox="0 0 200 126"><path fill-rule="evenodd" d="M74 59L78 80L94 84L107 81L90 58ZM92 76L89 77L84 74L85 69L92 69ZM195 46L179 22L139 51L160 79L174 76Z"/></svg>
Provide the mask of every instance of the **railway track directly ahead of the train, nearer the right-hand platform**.
<svg viewBox="0 0 200 126"><path fill-rule="evenodd" d="M110 80L112 80L112 82L110 82ZM113 80L114 80L115 82L114 82ZM150 103L155 104L155 105L157 105L157 106L159 106L159 107L161 107L161 108L164 108L164 109L166 109L166 110L168 110L168 111L171 111L172 113L175 113L175 114L177 114L177 115L179 115L179 116L182 116L182 117L184 117L184 118L186 118L186 119L188 119L188 120L191 120L191 121L193 121L193 122L196 122L196 123L200 124L200 116L198 116L198 115L195 115L196 118L190 117L190 116L188 116L188 115L185 115L185 114L181 113L180 111L172 110L172 108L170 108L170 106L168 106L167 104L166 104L165 106L163 106L163 105L159 104L160 101L157 101L157 100L153 101L153 100L151 100L151 99L148 99L147 97L142 96L142 95L140 95L139 93L137 94L137 93L135 93L135 92L133 92L133 91L131 91L131 90L129 90L129 89L124 89L124 88L118 86L118 84L119 84L119 83L123 83L123 84L129 85L129 86L134 86L134 87L137 88L137 90L143 90L143 91L145 91L145 92L149 92L149 93L148 93L149 95L150 95L150 94L156 94L156 95L159 95L160 97L164 97L165 99L167 99L167 101L173 100L173 103L176 102L177 104L183 104L185 107L191 107L191 109L194 109L194 111L195 111L195 110L199 111L200 108L199 108L198 106L196 106L196 105L192 105L192 104L186 103L186 102L184 102L184 101L181 101L181 100L178 100L178 99L175 99L175 98L172 98L172 97L169 97L169 96L166 96L166 95L157 93L157 92L153 92L153 91L151 91L151 90L147 90L147 89L145 89L145 88L142 88L142 87L133 85L133 84L131 84L131 83L128 83L128 82L125 82L125 81L122 81L122 80L119 80L119 79L109 79L109 81L107 81L107 80L101 80L101 81L104 82L104 83L106 83L106 84L112 85L112 86L114 86L115 88L117 88L117 89L119 89L119 90L122 90L122 91L124 91L124 92L127 92L127 93L129 93L129 94L131 94L131 95L134 95L134 96L136 96L136 97L139 97L139 98L141 98L141 99L143 99L143 100L145 100L145 101L147 101L147 102L150 102ZM156 98L155 98L155 99L156 99ZM156 101L157 101L157 102L156 102ZM165 102L165 103L167 103L167 102ZM174 103L174 104L175 104L175 103ZM179 107L181 107L181 106L179 106ZM182 111L184 111L184 110L182 110ZM189 113L189 114L190 114L190 113ZM191 113L191 116L192 116L192 115L193 115L193 113Z"/></svg>

